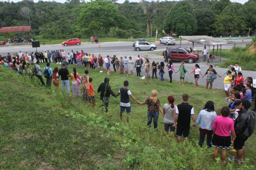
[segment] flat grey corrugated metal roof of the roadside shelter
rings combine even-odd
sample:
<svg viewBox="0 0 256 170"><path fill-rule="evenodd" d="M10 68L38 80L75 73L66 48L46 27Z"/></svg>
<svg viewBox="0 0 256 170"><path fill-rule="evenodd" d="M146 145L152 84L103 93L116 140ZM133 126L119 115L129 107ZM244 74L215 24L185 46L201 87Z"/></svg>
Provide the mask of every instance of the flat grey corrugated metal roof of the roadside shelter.
<svg viewBox="0 0 256 170"><path fill-rule="evenodd" d="M198 44L203 44L203 45L219 45L219 44L229 44L229 43L234 43L236 44L237 42L235 41L229 41L226 39L221 39L221 38L214 38L214 37L209 37L207 35L198 35L198 36L180 36L180 38L186 39L188 41L191 41L193 43L198 43Z"/></svg>

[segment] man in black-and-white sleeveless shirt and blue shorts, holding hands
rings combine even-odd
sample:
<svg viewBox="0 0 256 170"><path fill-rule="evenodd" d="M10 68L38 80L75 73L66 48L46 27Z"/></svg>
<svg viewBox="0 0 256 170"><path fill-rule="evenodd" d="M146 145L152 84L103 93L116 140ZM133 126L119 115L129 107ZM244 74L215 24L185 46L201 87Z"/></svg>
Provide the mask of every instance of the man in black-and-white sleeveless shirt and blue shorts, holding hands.
<svg viewBox="0 0 256 170"><path fill-rule="evenodd" d="M132 94L131 91L127 88L129 85L128 81L124 81L124 87L121 87L118 91L118 93L116 94L116 98L121 94L121 100L120 100L120 119L123 120L122 116L123 113L126 110L127 113L127 122L129 123L129 114L131 113L131 105L130 105L130 97L136 101L138 104L140 104L140 102L138 100L136 100Z"/></svg>

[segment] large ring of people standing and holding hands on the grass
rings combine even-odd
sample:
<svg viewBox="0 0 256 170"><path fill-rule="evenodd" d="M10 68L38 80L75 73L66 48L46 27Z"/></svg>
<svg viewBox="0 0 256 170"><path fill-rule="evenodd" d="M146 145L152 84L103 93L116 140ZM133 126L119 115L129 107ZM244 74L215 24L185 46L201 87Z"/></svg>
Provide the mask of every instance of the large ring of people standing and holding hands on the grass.
<svg viewBox="0 0 256 170"><path fill-rule="evenodd" d="M36 76L40 79L43 86L51 88L53 81L54 86L58 89L60 79L62 90L66 88L67 92L70 93L70 77L72 81L71 85L73 97L81 97L83 95L83 100L92 103L93 107L95 108L96 99L94 92L98 92L100 93L100 100L102 101L102 106L104 106L104 111L106 113L108 113L110 95L116 98L118 98L120 95L120 119L123 119L123 114L126 111L128 123L129 115L131 113L129 98L131 97L138 104L147 105L148 131L150 131L150 126L153 121L154 132L158 132L158 117L160 112L163 116L164 123L163 135L167 136L170 130L172 132L171 136L174 136L176 130L178 143L181 142L182 136L183 140L187 139L190 130L190 120L192 119L195 123L193 124L194 128L200 124L199 146L202 147L204 137L207 135L208 147L215 147L213 157L211 159L212 161L215 161L218 149L221 148L222 164L225 165L226 150L231 148L232 141L234 143L233 148L236 150L237 155L229 157L228 159L237 163L244 161L244 143L254 131L255 115L249 109L251 106L251 98L253 94L252 78L247 77L245 84L243 84L243 77L241 72L242 70L238 66L238 63L235 67L230 65L229 69L222 75L219 75L213 69L213 66L210 65L209 69L203 75L198 64L195 64L194 70L189 72L184 66L184 62L181 62L179 70L175 71L172 61L168 61L166 67L168 68L170 83L172 83L173 71L175 73L180 71L180 84L183 80L183 86L186 72L188 72L188 74L194 73L196 84L194 88L198 88L197 81L199 79L199 74L202 76L202 78L207 75L207 85L205 89L208 88L210 83L210 90L212 89L212 83L216 79L216 75L218 77L222 77L226 74L224 79L224 91L226 98L231 98L233 103L230 104L230 107L224 106L221 109L221 116L217 116L214 110L214 103L212 101L208 101L204 108L199 112L199 115L196 119L194 107L188 104L189 97L187 94L182 96L183 102L178 105L174 105L174 97L169 96L167 98L168 102L164 104L162 108L159 99L156 98L158 94L156 90L152 90L151 96L148 97L144 102L140 102L131 94L131 91L128 89L128 81L124 81L124 86L121 87L115 94L109 85L108 77L106 77L104 82L99 85L98 90L95 90L92 85L93 78L90 78L88 75L90 69L97 70L98 66L100 67L100 73L102 73L103 63L105 62L107 74L110 74L111 63L113 67L116 68L116 73L123 74L125 72L125 74L128 76L128 71L130 71L130 76L134 76L133 69L136 68L137 77L140 77L141 68L145 68L147 78L151 78L150 71L152 71L153 75L151 79L154 78L154 75L155 79L157 79L156 72L158 72L158 78L163 81L163 74L165 74L164 62L160 62L159 64L159 62L153 61L151 64L148 59L143 61L140 55L138 55L135 62L132 60L132 57L129 57L128 59L126 55L124 56L124 59L123 57L118 58L115 55L113 55L113 57L107 55L105 58L103 58L99 54L99 56L96 57L94 54L90 55L83 52L83 50L81 52L73 52L72 50L71 53L68 54L66 54L64 50L56 50L51 52L49 50L45 50L44 53L39 53L36 51L35 54L29 54L26 52L25 55L22 53L22 51L19 51L18 54L13 54L13 56L8 53L6 58L0 56L0 59L1 64L3 63L2 65L10 67L13 70L16 69L18 73L21 73L27 72L26 65L33 64L34 57L37 60L35 64ZM20 65L19 62L22 64ZM40 63L42 62L47 63L43 70L40 68ZM59 69L57 66L55 66L54 69L52 69L50 64L54 63L60 64L61 68ZM86 68L84 74L80 75L76 71L76 68L73 68L72 73L70 73L68 70L68 65L70 64L77 66L83 65ZM22 70L20 70L20 67ZM41 72L46 78L46 84L43 81ZM82 84L82 95L80 84Z"/></svg>

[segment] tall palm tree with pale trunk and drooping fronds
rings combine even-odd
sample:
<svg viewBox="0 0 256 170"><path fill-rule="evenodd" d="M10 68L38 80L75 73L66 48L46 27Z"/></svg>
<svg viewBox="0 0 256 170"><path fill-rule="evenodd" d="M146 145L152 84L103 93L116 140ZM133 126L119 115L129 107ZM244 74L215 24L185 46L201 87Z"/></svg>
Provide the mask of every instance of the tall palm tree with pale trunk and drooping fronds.
<svg viewBox="0 0 256 170"><path fill-rule="evenodd" d="M152 26L151 26L151 17L153 14L156 13L157 6L159 3L159 0L156 2L151 0L151 2L141 0L141 6L143 8L144 14L147 14L147 33L148 36L152 37Z"/></svg>

